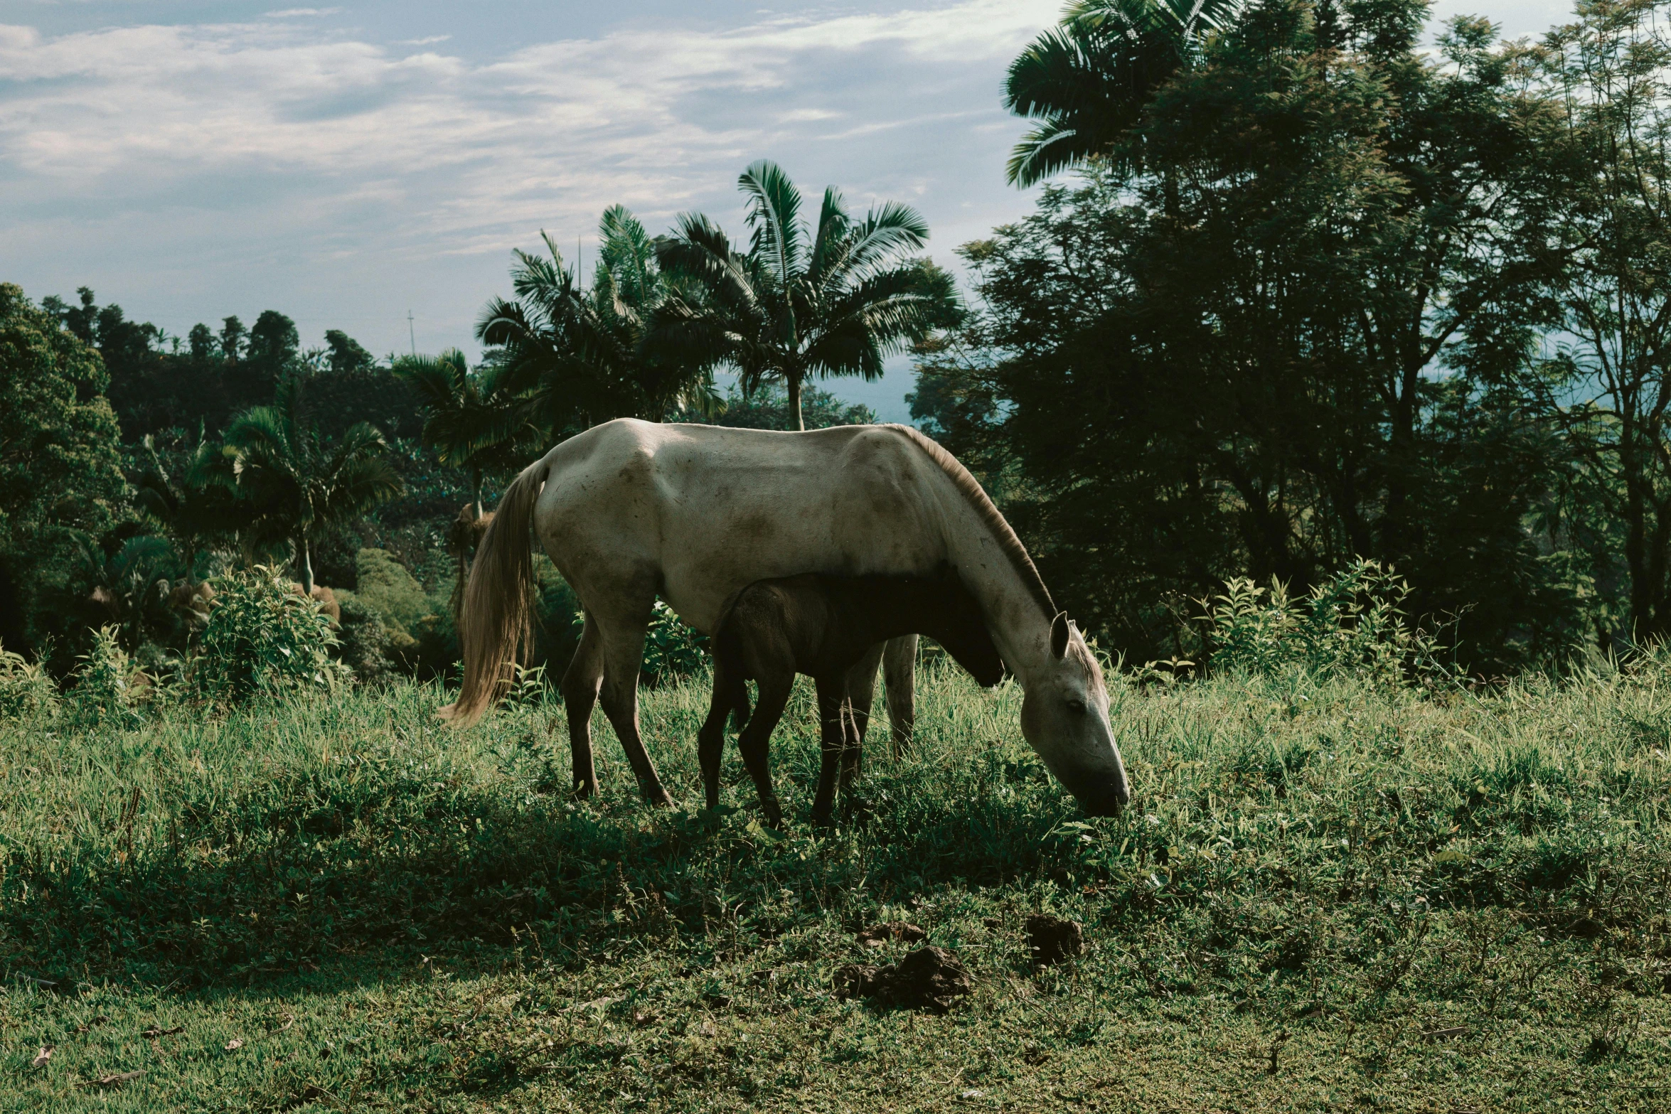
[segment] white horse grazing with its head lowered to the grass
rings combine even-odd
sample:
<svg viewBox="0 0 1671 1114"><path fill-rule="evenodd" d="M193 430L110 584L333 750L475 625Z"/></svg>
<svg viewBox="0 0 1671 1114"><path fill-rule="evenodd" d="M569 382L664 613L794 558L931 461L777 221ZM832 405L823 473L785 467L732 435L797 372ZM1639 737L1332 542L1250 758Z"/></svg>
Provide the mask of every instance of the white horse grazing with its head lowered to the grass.
<svg viewBox="0 0 1671 1114"><path fill-rule="evenodd" d="M757 580L924 576L949 565L1024 690L1033 750L1086 812L1130 800L1096 658L968 469L909 426L772 433L623 418L563 441L511 483L481 539L460 620L465 685L441 710L456 723L498 700L530 633L530 524L585 610L561 683L582 793L597 787L590 718L602 695L645 797L672 802L638 735L657 595L712 633L730 596Z"/></svg>

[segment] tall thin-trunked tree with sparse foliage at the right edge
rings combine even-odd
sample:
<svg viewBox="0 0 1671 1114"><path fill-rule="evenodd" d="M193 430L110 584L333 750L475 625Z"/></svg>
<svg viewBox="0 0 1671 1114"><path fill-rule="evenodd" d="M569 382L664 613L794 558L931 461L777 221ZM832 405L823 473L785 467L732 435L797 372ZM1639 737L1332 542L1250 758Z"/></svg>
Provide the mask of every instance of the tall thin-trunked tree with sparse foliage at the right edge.
<svg viewBox="0 0 1671 1114"><path fill-rule="evenodd" d="M1586 0L1549 33L1544 75L1572 157L1559 352L1524 377L1621 534L1626 638L1671 635L1671 40L1664 0ZM1581 513L1584 508L1577 508Z"/></svg>

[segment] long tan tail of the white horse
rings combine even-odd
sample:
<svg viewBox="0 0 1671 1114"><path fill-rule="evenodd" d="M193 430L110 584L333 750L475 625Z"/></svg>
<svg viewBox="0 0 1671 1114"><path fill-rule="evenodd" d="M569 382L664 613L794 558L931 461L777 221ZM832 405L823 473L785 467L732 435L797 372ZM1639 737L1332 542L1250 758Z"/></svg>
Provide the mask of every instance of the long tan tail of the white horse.
<svg viewBox="0 0 1671 1114"><path fill-rule="evenodd" d="M441 708L443 720L470 727L510 688L511 663L533 640L533 548L528 526L545 484L546 463L535 461L506 488L481 538L458 616L465 686Z"/></svg>

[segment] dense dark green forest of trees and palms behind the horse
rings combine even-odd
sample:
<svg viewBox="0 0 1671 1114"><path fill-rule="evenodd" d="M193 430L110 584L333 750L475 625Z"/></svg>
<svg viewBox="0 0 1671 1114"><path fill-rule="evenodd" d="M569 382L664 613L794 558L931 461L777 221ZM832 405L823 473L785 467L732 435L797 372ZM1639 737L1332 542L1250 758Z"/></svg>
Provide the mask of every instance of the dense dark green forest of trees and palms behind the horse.
<svg viewBox="0 0 1671 1114"><path fill-rule="evenodd" d="M1205 660L1235 578L1362 558L1481 678L1629 653L1671 628L1664 7L1504 43L1422 0L1076 3L1006 80L1043 192L957 249L962 291L912 209L770 162L742 239L615 207L590 276L518 252L475 366L0 287L0 645L67 675L115 626L165 670L199 585L279 563L363 676L438 675L478 518L545 448L872 421L817 382L909 352L914 419L1128 663Z"/></svg>

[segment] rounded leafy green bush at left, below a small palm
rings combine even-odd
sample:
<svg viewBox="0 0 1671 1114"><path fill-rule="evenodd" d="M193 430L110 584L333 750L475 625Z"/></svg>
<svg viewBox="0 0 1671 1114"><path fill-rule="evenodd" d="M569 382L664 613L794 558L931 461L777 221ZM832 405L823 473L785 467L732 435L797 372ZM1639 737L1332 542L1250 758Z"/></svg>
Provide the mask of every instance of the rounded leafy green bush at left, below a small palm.
<svg viewBox="0 0 1671 1114"><path fill-rule="evenodd" d="M277 568L257 565L219 578L192 681L207 696L234 701L296 688L329 690L348 675L331 660L336 645L319 605Z"/></svg>

